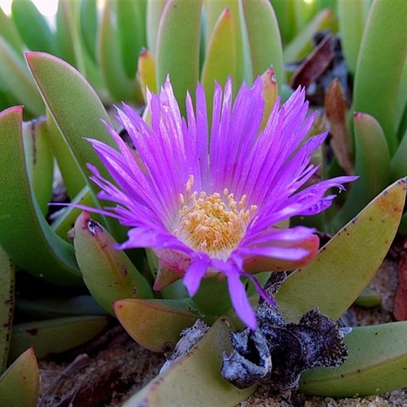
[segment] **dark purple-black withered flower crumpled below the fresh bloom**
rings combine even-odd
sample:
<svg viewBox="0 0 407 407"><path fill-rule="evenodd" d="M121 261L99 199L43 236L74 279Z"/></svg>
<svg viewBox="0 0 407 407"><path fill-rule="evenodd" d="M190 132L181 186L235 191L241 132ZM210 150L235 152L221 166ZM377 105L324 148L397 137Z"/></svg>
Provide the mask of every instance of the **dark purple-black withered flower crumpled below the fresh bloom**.
<svg viewBox="0 0 407 407"><path fill-rule="evenodd" d="M273 273L267 292L274 296L284 273ZM261 302L256 310L257 329L230 334L233 350L223 355L222 376L244 389L265 384L270 389L290 392L298 388L301 372L317 366L336 367L347 357L342 339L351 328L317 309L305 313L298 324L286 323L278 309Z"/></svg>

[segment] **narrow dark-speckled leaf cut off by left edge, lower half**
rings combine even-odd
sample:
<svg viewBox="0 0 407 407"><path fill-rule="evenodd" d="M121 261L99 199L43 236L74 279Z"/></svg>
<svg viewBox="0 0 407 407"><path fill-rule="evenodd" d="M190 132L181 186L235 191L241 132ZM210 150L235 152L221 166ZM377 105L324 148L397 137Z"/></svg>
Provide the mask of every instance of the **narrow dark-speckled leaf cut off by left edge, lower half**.
<svg viewBox="0 0 407 407"><path fill-rule="evenodd" d="M7 253L0 247L0 374L7 365L11 326L14 311L14 265ZM1 381L1 379L0 379Z"/></svg>

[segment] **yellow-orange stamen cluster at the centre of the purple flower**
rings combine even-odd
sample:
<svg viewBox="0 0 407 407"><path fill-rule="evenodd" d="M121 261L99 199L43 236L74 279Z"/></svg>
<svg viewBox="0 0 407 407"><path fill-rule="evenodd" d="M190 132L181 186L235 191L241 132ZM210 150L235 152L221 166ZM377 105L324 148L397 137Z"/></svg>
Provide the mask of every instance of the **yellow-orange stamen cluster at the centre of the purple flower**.
<svg viewBox="0 0 407 407"><path fill-rule="evenodd" d="M173 231L180 240L194 250L226 259L242 240L252 212L246 210L246 195L239 202L225 188L223 194L197 191L190 193L193 177L187 183L187 199L180 195L182 205L178 227Z"/></svg>

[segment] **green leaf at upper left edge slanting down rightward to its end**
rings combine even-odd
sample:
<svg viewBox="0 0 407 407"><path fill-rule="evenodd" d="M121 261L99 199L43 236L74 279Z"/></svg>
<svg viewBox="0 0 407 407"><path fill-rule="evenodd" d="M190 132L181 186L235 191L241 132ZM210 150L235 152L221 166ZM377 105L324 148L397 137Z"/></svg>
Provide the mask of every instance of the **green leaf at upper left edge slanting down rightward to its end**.
<svg viewBox="0 0 407 407"><path fill-rule="evenodd" d="M40 116L45 112L41 96L30 77L24 61L2 37L0 37L0 83L16 100L23 103L28 112Z"/></svg>

